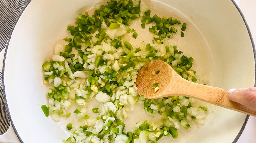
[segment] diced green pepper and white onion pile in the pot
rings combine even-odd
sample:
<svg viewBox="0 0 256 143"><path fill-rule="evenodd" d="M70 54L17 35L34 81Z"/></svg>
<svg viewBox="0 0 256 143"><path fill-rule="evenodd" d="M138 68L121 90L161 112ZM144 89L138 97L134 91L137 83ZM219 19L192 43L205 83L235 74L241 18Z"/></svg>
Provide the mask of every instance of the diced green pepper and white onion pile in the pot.
<svg viewBox="0 0 256 143"><path fill-rule="evenodd" d="M68 44L57 45L55 55L42 65L44 83L52 85L47 93L48 106L41 106L44 114L51 115L54 121L75 114L78 121L84 121L79 125L67 124L72 134L62 141L155 143L162 136L177 138L177 129L189 129L190 123L203 125L208 109L205 105L193 106L195 99L183 96L145 99L136 91L139 70L153 60L165 61L184 79L197 81L196 72L190 70L194 59L168 42L178 31L173 25L181 22L171 17L151 17L148 6L139 0L111 0L97 8L92 16L87 12L80 14L76 27L68 26L71 38L64 39ZM129 28L130 22L137 18L141 19L143 29L146 24L155 24L149 27L153 44L141 41L134 46L122 39L130 32L135 39L139 36L140 33ZM181 27L182 31L185 29L186 23ZM158 84L154 83L152 88L156 90ZM92 109L98 115L96 119L87 115L87 102L94 98L100 102L98 108ZM73 105L77 108L70 111ZM160 114L161 121L149 118L127 131L123 121L128 117L127 111L136 106L144 107L145 113L152 117Z"/></svg>

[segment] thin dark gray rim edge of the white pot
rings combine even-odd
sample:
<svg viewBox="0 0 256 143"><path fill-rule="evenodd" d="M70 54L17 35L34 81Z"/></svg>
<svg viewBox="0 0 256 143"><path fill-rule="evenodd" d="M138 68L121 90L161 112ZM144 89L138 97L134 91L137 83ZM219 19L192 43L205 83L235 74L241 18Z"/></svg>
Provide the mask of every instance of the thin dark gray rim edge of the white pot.
<svg viewBox="0 0 256 143"><path fill-rule="evenodd" d="M249 34L249 36L250 36L251 44L252 44L252 48L253 48L254 63L255 63L255 69L256 69L256 51L255 51L255 45L254 45L254 42L253 42L253 38L252 38L252 35L251 35L250 28L249 28L249 26L248 26L248 23L247 23L246 20L245 20L244 14L242 13L241 9L239 8L239 6L238 6L237 3L235 2L235 0L231 0L231 1L233 2L233 4L235 5L235 7L237 8L237 10L239 11L239 13L240 13L240 15L241 15L241 17L242 17L242 19L243 19L243 21L244 21L244 23L245 23L245 26L246 26L246 28L247 28L247 30L248 30L248 34ZM18 132L17 132L15 126L14 126L14 123L13 123L13 121L12 121L12 119L11 119L11 115L10 115L10 111L9 111L9 108L8 108L8 104L7 104L7 101L6 101L5 84L4 84L4 79L5 79L5 78L4 78L4 70L5 70L5 59L6 59L7 49L8 49L8 45L9 45L10 39L11 39L12 32L13 32L14 27L15 27L15 25L17 24L17 22L18 22L18 20L19 20L19 18L20 18L20 16L21 16L21 14L23 13L23 11L25 10L25 8L28 6L28 4L29 4L30 2L31 2L31 0L28 0L27 4L26 4L25 7L21 10L21 13L19 14L17 20L16 20L15 23L14 23L14 26L13 26L13 28L12 28L12 30L11 30L11 34L10 34L9 39L8 39L8 41L7 41L7 44L6 44L6 49L5 49L5 54L4 54L4 60L3 60L3 91L4 91L4 99L5 99L5 103L6 103L6 104L5 104L5 105L6 105L6 110L7 110L7 113L8 113L10 122L11 122L11 125L12 125L12 127L13 127L13 130L14 130L15 134L17 135L17 137L18 137L18 139L20 140L21 143L24 143L24 142L22 141L20 135L18 134ZM256 70L255 70L255 72L256 72ZM256 74L255 74L255 76L256 76ZM254 86L256 86L256 78L255 78ZM245 121L244 121L244 124L242 125L242 127L241 127L239 133L237 134L236 138L234 139L233 143L236 143L237 140L239 139L239 137L241 136L241 134L243 133L243 131L244 131L244 129L245 129L245 126L246 126L246 124L247 124L247 122L248 122L249 117L250 117L250 115L247 115L247 116L246 116Z"/></svg>

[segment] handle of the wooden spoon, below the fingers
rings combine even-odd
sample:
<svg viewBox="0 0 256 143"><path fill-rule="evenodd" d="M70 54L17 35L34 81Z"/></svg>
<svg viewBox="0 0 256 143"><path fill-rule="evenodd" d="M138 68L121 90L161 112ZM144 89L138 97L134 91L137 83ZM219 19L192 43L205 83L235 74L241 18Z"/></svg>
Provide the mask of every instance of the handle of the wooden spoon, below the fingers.
<svg viewBox="0 0 256 143"><path fill-rule="evenodd" d="M227 109L242 112L248 115L256 116L256 111L245 107L242 104L233 102L228 99L228 90L202 85L194 82L187 81L180 77L173 77L176 82L171 83L168 88L164 91L164 97L177 95L187 96L201 101L211 103L217 106L221 106Z"/></svg>

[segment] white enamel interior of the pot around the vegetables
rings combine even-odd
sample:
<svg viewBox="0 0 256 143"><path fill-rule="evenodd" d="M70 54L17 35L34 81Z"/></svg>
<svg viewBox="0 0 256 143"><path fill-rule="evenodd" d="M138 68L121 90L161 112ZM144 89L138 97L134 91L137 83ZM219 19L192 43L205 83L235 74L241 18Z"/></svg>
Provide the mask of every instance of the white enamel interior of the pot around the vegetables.
<svg viewBox="0 0 256 143"><path fill-rule="evenodd" d="M66 27L74 23L79 13L93 6L90 3L32 0L13 31L5 62L5 92L14 126L25 143L61 142L69 136L65 128L46 118L40 109L47 103L41 65L51 57L55 44L67 35ZM179 30L170 44L177 45L185 55L193 56L199 78L207 76L208 85L226 89L254 85L252 45L242 17L231 1L163 0L152 4L152 12L159 16L177 17L181 23L188 23L185 37L180 37ZM136 27L136 23L133 26ZM145 40L140 35L136 40L139 39ZM139 112L137 114L139 117ZM139 120L130 117L127 123ZM232 142L244 120L242 113L220 107L215 111L212 107L205 126L180 133L175 141Z"/></svg>

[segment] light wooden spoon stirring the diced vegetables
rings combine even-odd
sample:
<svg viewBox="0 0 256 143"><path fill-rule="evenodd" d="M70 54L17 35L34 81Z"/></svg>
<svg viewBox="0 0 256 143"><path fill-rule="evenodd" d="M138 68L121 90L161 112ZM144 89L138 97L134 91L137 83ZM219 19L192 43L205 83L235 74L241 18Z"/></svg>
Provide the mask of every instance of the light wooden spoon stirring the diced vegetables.
<svg viewBox="0 0 256 143"><path fill-rule="evenodd" d="M158 74L155 74L159 70ZM152 89L159 83L159 90ZM146 64L136 79L137 92L145 98L155 99L168 96L187 96L207 103L256 116L256 111L228 99L228 90L202 85L183 79L164 61L156 60Z"/></svg>

